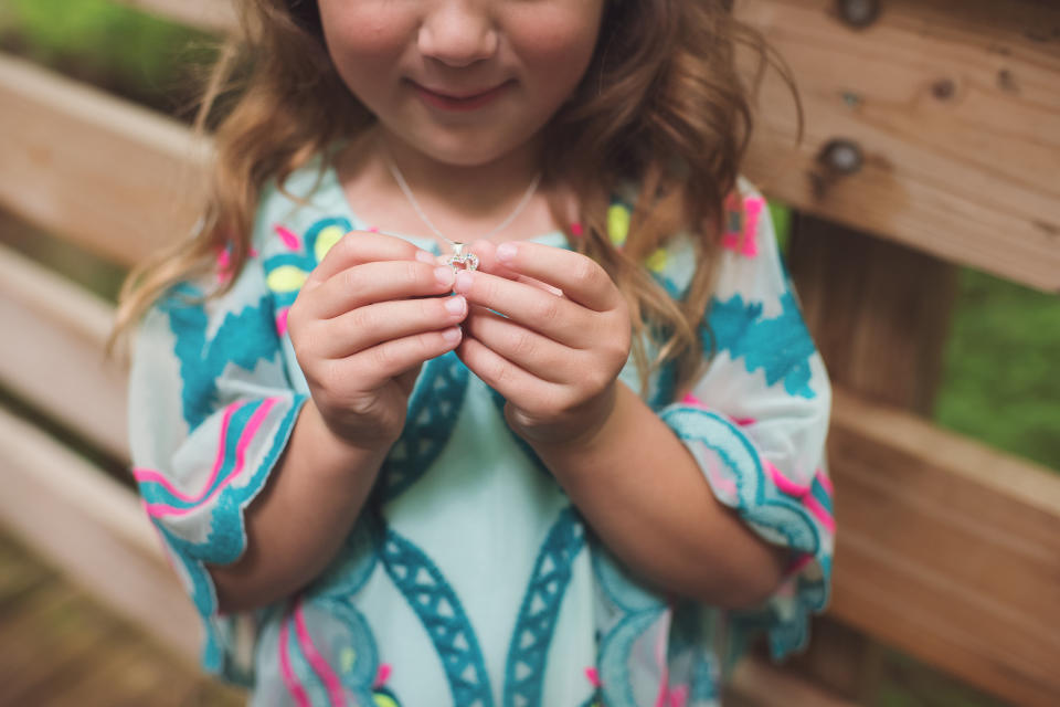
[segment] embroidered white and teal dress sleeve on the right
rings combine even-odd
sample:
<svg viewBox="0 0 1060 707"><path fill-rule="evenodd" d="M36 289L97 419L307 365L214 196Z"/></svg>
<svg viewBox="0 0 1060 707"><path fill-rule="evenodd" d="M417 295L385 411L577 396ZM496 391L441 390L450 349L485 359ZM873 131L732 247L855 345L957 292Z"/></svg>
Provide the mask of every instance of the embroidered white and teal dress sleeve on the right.
<svg viewBox="0 0 1060 707"><path fill-rule="evenodd" d="M825 460L830 387L785 274L764 199L745 188L701 327L710 357L660 411L718 499L792 562L764 605L729 612L730 656L766 632L775 658L802 647L828 598L835 538Z"/></svg>

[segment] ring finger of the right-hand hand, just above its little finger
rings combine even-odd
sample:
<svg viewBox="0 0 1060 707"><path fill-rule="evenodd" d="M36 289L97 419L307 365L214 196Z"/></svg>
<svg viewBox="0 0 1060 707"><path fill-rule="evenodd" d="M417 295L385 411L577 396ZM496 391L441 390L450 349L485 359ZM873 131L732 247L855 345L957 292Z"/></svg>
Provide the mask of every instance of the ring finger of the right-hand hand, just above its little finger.
<svg viewBox="0 0 1060 707"><path fill-rule="evenodd" d="M573 362L579 351L481 307L475 307L464 329L468 339L480 341L541 380L563 383L579 368Z"/></svg>

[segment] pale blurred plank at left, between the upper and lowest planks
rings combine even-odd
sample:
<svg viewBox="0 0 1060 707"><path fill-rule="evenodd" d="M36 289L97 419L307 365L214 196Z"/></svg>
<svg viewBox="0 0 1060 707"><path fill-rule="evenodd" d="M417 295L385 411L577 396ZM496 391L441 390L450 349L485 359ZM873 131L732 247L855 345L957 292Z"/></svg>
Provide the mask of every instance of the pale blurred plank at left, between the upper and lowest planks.
<svg viewBox="0 0 1060 707"><path fill-rule="evenodd" d="M127 370L103 346L114 309L82 287L0 246L0 382L92 440L128 458Z"/></svg>

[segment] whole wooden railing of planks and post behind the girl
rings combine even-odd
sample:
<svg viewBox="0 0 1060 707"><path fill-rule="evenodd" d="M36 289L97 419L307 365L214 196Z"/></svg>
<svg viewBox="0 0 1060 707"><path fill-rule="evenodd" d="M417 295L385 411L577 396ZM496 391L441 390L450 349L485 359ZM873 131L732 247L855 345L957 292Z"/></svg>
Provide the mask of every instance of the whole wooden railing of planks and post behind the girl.
<svg viewBox="0 0 1060 707"><path fill-rule="evenodd" d="M206 0L130 4L216 31L232 22ZM736 3L804 101L796 147L791 98L766 83L748 175L804 214L789 265L836 384L828 615L844 630L825 624L802 675L856 697L849 683L881 642L1010 701L1057 704L1060 476L922 414L956 265L1060 292L1060 8L881 4L855 28L841 2ZM173 197L201 184L209 146L186 127L6 56L0 106L4 209L123 265L193 222ZM829 159L836 149L846 161ZM102 356L112 316L0 250L0 384L125 458L125 371ZM2 411L0 449L0 523L192 656L191 609L132 494ZM756 664L740 674L756 704L826 704L812 685L773 689L786 679Z"/></svg>

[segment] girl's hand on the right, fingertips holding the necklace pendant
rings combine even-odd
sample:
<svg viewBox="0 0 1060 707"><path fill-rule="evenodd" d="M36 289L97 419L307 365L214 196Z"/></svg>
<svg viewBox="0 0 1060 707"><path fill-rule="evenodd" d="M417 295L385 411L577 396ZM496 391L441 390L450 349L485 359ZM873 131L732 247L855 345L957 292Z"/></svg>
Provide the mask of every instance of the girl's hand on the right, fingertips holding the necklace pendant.
<svg viewBox="0 0 1060 707"><path fill-rule="evenodd" d="M530 443L586 440L614 408L629 356L626 300L592 258L527 241L474 252L457 273L470 305L457 354L507 400L508 424Z"/></svg>

